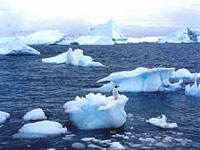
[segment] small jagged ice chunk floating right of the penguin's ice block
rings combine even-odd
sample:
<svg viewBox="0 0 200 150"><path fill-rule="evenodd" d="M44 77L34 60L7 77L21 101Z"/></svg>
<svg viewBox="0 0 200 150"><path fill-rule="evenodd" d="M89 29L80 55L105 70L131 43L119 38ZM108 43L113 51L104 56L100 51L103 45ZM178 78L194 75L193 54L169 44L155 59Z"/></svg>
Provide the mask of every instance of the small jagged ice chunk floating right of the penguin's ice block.
<svg viewBox="0 0 200 150"><path fill-rule="evenodd" d="M150 118L146 122L152 125L155 125L157 127L164 128L164 129L178 127L176 123L167 123L167 117L165 115L162 115L161 117L157 117L157 118Z"/></svg>

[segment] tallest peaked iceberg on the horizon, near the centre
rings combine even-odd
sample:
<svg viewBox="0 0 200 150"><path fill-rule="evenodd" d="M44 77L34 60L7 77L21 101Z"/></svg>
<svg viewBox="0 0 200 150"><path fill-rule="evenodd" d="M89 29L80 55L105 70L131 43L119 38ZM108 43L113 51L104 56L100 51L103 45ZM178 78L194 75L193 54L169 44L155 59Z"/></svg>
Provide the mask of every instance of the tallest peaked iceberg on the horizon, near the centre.
<svg viewBox="0 0 200 150"><path fill-rule="evenodd" d="M74 40L79 45L113 45L115 40L122 39L118 25L110 20L105 24L99 24L92 28L85 36Z"/></svg>

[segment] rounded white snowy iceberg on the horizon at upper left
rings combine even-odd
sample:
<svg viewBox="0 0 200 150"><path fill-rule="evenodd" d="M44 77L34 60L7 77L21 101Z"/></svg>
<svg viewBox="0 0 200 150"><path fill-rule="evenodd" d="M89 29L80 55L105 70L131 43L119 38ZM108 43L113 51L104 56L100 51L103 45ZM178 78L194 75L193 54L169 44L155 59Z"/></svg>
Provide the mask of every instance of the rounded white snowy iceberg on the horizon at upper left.
<svg viewBox="0 0 200 150"><path fill-rule="evenodd" d="M56 42L64 40L65 35L58 30L42 30L35 33L31 33L24 37L19 37L20 41L31 44L54 44Z"/></svg>

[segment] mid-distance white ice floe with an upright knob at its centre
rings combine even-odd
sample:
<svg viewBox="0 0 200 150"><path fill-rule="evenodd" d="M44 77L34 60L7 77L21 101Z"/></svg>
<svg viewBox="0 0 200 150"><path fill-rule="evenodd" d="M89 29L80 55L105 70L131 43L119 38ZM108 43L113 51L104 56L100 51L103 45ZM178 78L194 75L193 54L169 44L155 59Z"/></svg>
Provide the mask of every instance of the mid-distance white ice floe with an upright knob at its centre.
<svg viewBox="0 0 200 150"><path fill-rule="evenodd" d="M66 63L76 66L103 66L100 62L93 61L93 58L90 56L83 55L83 50L76 49L72 50L69 48L67 52L59 54L55 57L44 58L42 59L44 63Z"/></svg>

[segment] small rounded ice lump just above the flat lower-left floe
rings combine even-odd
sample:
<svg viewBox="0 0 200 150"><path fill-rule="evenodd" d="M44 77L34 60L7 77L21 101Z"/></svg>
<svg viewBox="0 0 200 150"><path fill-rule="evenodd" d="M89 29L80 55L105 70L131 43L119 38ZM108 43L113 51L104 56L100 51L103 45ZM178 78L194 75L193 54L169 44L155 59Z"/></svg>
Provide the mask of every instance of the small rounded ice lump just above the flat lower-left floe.
<svg viewBox="0 0 200 150"><path fill-rule="evenodd" d="M23 119L25 121L29 120L35 121L35 120L44 120L47 119L47 117L45 116L44 111L41 108L36 108L27 112L24 115Z"/></svg>

